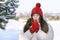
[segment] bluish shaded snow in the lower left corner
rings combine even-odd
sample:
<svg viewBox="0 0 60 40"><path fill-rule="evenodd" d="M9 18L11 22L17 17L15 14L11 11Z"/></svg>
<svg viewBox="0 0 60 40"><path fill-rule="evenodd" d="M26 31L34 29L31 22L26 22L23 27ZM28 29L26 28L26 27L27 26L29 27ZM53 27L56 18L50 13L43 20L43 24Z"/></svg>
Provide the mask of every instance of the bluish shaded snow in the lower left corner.
<svg viewBox="0 0 60 40"><path fill-rule="evenodd" d="M18 40L18 33L17 30L0 30L0 40Z"/></svg>

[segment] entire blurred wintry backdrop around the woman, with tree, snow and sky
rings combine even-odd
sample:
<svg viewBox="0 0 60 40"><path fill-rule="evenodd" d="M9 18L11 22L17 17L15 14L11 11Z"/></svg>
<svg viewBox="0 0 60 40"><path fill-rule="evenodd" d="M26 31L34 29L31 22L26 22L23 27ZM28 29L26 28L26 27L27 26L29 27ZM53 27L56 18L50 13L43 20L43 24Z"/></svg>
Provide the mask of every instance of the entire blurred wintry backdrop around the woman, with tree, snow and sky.
<svg viewBox="0 0 60 40"><path fill-rule="evenodd" d="M60 40L60 0L0 0L0 40L18 40L35 4L41 3L44 17Z"/></svg>

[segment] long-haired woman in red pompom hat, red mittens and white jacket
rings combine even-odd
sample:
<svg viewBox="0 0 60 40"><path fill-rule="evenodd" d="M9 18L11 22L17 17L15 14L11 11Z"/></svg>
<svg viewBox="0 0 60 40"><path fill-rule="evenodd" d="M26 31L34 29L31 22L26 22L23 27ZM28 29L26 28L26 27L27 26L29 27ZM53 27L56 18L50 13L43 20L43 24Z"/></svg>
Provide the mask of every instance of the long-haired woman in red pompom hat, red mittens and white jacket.
<svg viewBox="0 0 60 40"><path fill-rule="evenodd" d="M27 20L24 26L23 32L27 40L53 40L53 31L51 31L52 29L50 29L47 22L43 19L40 6L40 3L36 4L36 7L32 9L31 18Z"/></svg>

